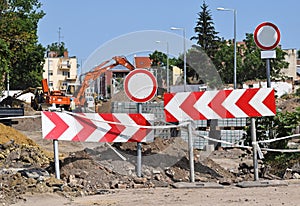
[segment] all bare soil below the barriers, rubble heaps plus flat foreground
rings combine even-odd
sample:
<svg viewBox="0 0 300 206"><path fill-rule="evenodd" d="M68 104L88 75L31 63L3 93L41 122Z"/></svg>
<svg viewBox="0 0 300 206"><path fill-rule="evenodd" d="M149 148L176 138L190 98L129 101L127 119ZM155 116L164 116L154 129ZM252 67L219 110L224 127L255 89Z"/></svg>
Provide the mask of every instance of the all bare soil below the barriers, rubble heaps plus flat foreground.
<svg viewBox="0 0 300 206"><path fill-rule="evenodd" d="M26 110L27 116L39 114ZM224 188L174 189L175 183L190 180L188 145L180 137L156 137L142 144L142 177L136 176L136 143L60 141L57 179L53 145L42 139L40 116L17 121L13 127L0 124L0 205L298 205L300 201L298 173L283 180L268 173L262 160L260 180L288 181L288 186L236 187L254 180L251 151L237 148L194 151L195 181Z"/></svg>

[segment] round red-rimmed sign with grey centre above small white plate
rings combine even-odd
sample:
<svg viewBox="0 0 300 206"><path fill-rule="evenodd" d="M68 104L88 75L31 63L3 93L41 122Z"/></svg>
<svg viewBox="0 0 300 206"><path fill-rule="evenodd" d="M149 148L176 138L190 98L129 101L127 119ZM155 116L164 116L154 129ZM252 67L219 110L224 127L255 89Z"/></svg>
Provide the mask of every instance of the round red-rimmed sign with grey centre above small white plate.
<svg viewBox="0 0 300 206"><path fill-rule="evenodd" d="M262 50L272 50L280 42L280 31L276 25L270 22L258 25L253 35L255 44Z"/></svg>

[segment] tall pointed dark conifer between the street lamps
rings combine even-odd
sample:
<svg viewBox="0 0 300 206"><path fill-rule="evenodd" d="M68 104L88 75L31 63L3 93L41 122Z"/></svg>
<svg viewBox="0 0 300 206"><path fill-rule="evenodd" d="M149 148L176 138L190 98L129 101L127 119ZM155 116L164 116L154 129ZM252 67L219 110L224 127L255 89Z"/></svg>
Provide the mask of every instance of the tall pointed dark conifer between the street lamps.
<svg viewBox="0 0 300 206"><path fill-rule="evenodd" d="M198 13L198 21L194 28L196 35L191 40L196 40L208 57L213 59L220 42L220 38L217 36L219 32L215 31L211 12L205 1L201 9L202 11Z"/></svg>

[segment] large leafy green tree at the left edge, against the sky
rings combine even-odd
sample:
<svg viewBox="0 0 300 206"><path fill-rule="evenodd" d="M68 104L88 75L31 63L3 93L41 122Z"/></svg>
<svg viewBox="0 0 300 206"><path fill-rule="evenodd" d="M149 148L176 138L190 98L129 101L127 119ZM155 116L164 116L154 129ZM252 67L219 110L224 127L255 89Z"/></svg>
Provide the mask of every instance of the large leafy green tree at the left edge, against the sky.
<svg viewBox="0 0 300 206"><path fill-rule="evenodd" d="M38 0L12 0L0 2L0 39L6 45L1 51L1 62L5 59L11 89L24 89L40 85L43 73L45 48L38 43L37 26L44 16ZM3 69L3 68L1 68Z"/></svg>

